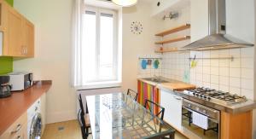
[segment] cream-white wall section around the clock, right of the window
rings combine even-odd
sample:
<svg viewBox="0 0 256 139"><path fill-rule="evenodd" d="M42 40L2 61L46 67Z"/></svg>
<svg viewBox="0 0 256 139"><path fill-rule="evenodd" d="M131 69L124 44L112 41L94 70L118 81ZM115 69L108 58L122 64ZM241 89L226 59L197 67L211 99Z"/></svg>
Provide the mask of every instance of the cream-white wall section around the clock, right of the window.
<svg viewBox="0 0 256 139"><path fill-rule="evenodd" d="M143 24L142 34L131 32L132 21ZM141 1L123 9L123 90L137 90L138 57L154 55L154 33L158 25L157 20L150 17L150 7Z"/></svg>

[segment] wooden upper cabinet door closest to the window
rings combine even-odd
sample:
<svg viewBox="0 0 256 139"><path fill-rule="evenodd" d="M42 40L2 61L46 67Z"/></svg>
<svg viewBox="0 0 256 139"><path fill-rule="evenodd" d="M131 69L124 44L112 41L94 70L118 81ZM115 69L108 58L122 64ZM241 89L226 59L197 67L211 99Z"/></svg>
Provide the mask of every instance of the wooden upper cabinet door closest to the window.
<svg viewBox="0 0 256 139"><path fill-rule="evenodd" d="M33 57L34 56L34 26L33 24L26 20L22 20L22 46L24 56Z"/></svg>

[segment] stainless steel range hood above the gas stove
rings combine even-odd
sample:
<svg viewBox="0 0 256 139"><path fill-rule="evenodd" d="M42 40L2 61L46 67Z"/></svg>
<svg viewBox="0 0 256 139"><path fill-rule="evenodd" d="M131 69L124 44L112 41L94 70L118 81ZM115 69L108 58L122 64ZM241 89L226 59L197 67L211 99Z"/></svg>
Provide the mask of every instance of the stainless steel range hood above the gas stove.
<svg viewBox="0 0 256 139"><path fill-rule="evenodd" d="M225 34L226 12L225 0L208 0L209 3L209 36L201 38L181 49L207 50L252 47L253 43L244 42ZM192 25L193 26L193 25Z"/></svg>

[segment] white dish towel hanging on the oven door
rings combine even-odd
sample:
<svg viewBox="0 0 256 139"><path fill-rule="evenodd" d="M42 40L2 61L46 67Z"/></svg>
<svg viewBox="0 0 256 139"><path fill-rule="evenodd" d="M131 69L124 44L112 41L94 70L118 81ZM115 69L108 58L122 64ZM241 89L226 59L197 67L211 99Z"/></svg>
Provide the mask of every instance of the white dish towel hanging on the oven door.
<svg viewBox="0 0 256 139"><path fill-rule="evenodd" d="M197 125L205 130L208 129L208 118L207 116L201 114L201 113L192 113L192 119L193 119L193 124Z"/></svg>

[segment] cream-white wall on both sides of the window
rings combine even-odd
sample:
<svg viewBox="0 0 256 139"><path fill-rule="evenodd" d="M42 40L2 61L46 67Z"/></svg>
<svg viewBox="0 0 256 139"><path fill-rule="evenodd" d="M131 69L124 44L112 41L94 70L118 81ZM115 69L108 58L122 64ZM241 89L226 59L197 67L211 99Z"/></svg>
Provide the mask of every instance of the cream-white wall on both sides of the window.
<svg viewBox="0 0 256 139"><path fill-rule="evenodd" d="M36 27L35 57L15 60L14 69L31 71L34 79L51 79L47 94L47 122L76 119L76 93L70 87L71 14L73 0L15 0L15 9ZM137 90L137 57L154 54L158 25L150 18L148 5L123 10L123 90ZM140 21L143 33L131 32L131 22Z"/></svg>

